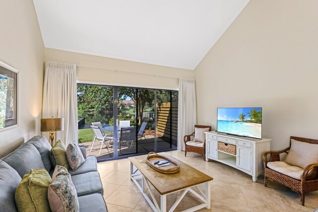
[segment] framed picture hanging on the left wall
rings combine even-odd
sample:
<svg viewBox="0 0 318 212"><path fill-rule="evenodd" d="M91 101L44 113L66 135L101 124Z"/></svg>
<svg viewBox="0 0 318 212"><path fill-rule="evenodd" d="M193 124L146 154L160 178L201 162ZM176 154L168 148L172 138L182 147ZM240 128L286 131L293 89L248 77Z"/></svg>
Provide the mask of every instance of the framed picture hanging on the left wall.
<svg viewBox="0 0 318 212"><path fill-rule="evenodd" d="M0 61L0 133L18 126L18 71Z"/></svg>

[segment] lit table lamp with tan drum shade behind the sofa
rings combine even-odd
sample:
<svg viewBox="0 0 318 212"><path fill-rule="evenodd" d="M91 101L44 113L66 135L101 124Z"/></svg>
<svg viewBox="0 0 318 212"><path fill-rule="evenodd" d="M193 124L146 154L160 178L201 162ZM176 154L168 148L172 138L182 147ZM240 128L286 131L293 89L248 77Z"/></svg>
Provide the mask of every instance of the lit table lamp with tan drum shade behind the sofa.
<svg viewBox="0 0 318 212"><path fill-rule="evenodd" d="M41 132L50 132L51 146L53 146L54 132L64 130L64 118L41 119Z"/></svg>

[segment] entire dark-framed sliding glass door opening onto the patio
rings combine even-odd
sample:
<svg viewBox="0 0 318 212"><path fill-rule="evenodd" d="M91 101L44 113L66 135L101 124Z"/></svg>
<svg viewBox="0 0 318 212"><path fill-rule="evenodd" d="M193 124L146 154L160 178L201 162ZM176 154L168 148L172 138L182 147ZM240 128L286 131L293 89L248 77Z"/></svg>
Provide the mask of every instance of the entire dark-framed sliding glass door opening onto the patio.
<svg viewBox="0 0 318 212"><path fill-rule="evenodd" d="M174 149L177 99L172 90L78 84L79 145L97 159Z"/></svg>

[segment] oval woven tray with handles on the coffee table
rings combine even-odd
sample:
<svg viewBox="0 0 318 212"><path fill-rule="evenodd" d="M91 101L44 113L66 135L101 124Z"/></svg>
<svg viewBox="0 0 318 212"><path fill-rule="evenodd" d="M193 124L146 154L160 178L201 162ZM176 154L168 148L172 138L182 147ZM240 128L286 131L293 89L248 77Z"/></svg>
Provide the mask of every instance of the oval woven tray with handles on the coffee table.
<svg viewBox="0 0 318 212"><path fill-rule="evenodd" d="M152 155L150 155L150 154L152 154ZM153 162L156 160L160 160L160 161L166 160L166 161L169 161L169 163L171 165L157 167L156 165L153 164ZM163 155L157 154L154 151L148 153L147 158L146 158L146 163L148 165L150 165L150 167L152 167L156 171L163 173L163 174L174 174L180 170L180 166L177 162L175 162L175 161L171 160L170 158L167 158Z"/></svg>

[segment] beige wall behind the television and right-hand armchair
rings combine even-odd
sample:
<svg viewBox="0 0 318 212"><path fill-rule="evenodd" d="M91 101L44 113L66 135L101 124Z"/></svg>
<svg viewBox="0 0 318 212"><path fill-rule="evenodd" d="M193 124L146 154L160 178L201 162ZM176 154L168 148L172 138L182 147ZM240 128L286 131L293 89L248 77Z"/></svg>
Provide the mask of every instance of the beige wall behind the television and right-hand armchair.
<svg viewBox="0 0 318 212"><path fill-rule="evenodd" d="M271 149L318 139L318 1L251 0L195 69L198 123L263 107Z"/></svg>

